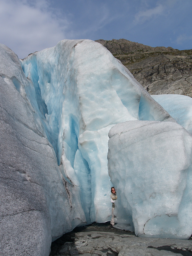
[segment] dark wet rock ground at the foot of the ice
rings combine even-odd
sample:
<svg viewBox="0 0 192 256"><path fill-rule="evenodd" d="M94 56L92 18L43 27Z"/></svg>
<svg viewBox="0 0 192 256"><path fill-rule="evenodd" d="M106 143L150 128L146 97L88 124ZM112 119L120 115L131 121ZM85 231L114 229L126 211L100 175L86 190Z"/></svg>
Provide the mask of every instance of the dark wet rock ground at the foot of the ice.
<svg viewBox="0 0 192 256"><path fill-rule="evenodd" d="M192 240L140 238L110 222L75 228L51 246L50 256L192 256Z"/></svg>

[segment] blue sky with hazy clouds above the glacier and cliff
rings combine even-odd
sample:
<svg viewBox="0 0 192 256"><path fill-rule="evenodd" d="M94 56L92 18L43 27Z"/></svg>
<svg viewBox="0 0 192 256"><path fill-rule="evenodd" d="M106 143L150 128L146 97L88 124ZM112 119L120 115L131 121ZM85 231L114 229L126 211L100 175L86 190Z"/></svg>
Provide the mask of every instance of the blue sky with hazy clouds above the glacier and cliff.
<svg viewBox="0 0 192 256"><path fill-rule="evenodd" d="M0 24L21 59L63 39L192 49L192 0L0 0Z"/></svg>

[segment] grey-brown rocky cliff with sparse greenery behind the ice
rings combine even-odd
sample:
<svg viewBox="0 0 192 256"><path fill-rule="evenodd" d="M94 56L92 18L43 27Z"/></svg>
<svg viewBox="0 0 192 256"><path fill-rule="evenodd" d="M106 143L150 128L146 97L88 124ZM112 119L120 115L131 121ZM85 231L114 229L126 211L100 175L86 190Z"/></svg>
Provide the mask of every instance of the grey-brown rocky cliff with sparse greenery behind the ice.
<svg viewBox="0 0 192 256"><path fill-rule="evenodd" d="M96 42L120 60L150 94L192 97L192 50L151 47L126 39Z"/></svg>

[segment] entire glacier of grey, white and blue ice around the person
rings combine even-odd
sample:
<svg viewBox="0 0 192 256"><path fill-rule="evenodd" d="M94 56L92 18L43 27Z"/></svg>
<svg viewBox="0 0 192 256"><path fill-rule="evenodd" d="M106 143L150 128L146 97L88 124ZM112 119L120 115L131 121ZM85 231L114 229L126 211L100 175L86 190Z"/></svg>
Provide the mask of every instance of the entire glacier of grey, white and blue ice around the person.
<svg viewBox="0 0 192 256"><path fill-rule="evenodd" d="M185 107L166 110L91 40L62 40L24 60L0 44L0 56L2 255L48 255L76 226L109 221L111 186L117 228L190 237Z"/></svg>

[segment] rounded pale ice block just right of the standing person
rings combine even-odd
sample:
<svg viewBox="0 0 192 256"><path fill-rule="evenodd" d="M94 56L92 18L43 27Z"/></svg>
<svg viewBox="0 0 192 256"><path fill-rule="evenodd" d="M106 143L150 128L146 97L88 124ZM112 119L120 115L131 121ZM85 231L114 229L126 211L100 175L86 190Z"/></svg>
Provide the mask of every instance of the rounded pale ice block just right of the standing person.
<svg viewBox="0 0 192 256"><path fill-rule="evenodd" d="M126 224L138 236L188 239L190 134L174 122L128 121L113 126L109 137L109 174L120 197L117 226Z"/></svg>

